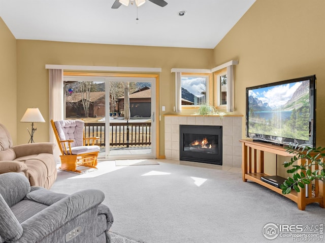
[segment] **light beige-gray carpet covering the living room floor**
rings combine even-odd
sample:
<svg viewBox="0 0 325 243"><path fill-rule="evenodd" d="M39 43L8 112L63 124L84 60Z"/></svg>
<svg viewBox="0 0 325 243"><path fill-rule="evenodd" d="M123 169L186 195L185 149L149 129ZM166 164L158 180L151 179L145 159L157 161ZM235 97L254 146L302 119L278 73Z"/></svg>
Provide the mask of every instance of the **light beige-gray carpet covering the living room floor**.
<svg viewBox="0 0 325 243"><path fill-rule="evenodd" d="M296 241L285 236L265 238L264 226L324 224L325 209L317 203L298 210L283 195L249 180L243 182L241 172L155 160L159 166L122 167L110 160L101 161L98 171L85 175L60 171L50 191L103 191L103 203L114 217L111 232L136 242L288 243ZM125 240L114 236L112 242Z"/></svg>

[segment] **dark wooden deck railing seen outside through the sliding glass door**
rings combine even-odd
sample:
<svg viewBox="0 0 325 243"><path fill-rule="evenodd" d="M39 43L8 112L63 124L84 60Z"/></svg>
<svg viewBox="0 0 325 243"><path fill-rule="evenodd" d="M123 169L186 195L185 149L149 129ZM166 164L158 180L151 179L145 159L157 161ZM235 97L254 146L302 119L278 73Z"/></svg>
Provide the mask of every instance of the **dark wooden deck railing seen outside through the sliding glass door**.
<svg viewBox="0 0 325 243"><path fill-rule="evenodd" d="M103 123L85 123L85 137L99 137L95 144L105 146ZM151 123L110 123L111 147L135 147L151 145Z"/></svg>

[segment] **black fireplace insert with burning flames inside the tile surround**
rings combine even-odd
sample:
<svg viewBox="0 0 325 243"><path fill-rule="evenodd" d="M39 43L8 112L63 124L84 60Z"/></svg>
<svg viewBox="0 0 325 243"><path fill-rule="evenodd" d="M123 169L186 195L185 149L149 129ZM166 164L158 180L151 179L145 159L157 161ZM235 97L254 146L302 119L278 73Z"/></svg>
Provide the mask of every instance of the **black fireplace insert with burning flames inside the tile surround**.
<svg viewBox="0 0 325 243"><path fill-rule="evenodd" d="M222 126L180 125L180 160L222 165Z"/></svg>

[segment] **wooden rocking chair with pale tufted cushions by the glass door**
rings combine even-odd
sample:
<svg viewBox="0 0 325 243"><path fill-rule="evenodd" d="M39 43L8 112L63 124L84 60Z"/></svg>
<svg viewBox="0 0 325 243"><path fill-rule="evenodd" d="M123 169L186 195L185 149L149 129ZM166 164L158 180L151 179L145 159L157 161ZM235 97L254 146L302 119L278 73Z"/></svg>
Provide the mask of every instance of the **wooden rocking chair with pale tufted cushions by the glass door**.
<svg viewBox="0 0 325 243"><path fill-rule="evenodd" d="M51 125L60 148L61 170L75 171L78 166L96 168L100 147L94 145L99 137L84 137L83 120L51 120Z"/></svg>

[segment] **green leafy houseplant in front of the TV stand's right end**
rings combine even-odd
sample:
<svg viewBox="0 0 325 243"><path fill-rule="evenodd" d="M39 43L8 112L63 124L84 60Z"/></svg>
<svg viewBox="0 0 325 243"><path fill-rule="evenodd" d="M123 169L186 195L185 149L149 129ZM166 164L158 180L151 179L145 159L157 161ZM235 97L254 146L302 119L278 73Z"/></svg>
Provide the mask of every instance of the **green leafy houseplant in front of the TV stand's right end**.
<svg viewBox="0 0 325 243"><path fill-rule="evenodd" d="M325 147L298 147L291 145L287 152L294 154L290 161L284 162L284 168L291 168L287 173L291 174L280 186L282 194L291 192L291 188L300 192L300 188L312 184L314 180L325 180L325 170L323 157L325 156ZM293 165L299 159L306 159L302 165ZM307 161L310 163L307 163ZM318 167L318 169L314 169Z"/></svg>

